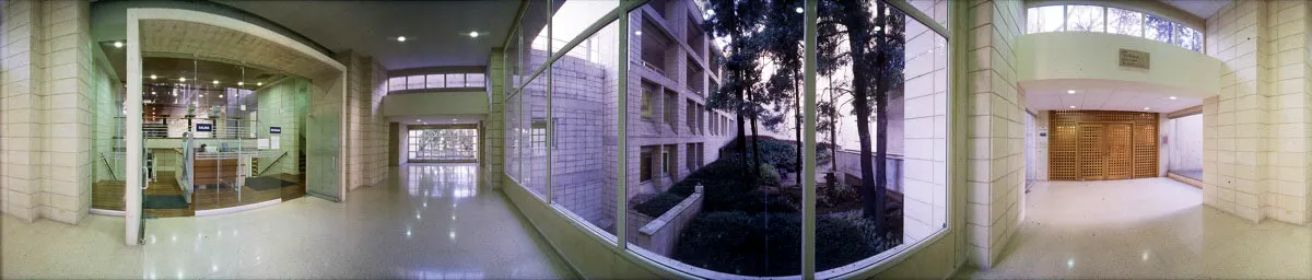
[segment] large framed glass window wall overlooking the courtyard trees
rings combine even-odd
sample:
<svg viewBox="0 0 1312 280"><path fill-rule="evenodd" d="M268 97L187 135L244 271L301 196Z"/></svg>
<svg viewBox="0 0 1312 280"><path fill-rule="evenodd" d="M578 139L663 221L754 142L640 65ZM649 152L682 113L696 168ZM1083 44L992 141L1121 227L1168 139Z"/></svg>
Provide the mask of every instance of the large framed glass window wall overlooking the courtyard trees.
<svg viewBox="0 0 1312 280"><path fill-rule="evenodd" d="M526 1L512 201L668 277L854 277L946 235L950 3L768 4Z"/></svg>

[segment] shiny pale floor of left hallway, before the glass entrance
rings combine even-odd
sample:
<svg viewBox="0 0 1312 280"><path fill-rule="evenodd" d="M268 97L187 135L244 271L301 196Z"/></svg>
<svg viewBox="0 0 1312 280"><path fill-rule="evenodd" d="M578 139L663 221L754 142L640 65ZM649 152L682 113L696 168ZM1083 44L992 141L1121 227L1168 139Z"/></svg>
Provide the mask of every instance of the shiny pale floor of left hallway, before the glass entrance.
<svg viewBox="0 0 1312 280"><path fill-rule="evenodd" d="M564 262L472 164L394 168L345 204L307 197L240 213L148 220L0 220L5 279L560 279Z"/></svg>

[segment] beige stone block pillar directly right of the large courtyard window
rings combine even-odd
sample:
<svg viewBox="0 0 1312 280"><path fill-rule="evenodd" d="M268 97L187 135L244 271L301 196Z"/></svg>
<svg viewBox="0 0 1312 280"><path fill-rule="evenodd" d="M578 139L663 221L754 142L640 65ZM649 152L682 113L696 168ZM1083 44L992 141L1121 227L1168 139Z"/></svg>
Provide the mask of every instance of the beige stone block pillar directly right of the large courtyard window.
<svg viewBox="0 0 1312 280"><path fill-rule="evenodd" d="M997 262L1021 222L1025 96L1017 89L1012 46L1022 34L1025 11L1021 1L979 1L970 11L964 230L970 262L987 269Z"/></svg>

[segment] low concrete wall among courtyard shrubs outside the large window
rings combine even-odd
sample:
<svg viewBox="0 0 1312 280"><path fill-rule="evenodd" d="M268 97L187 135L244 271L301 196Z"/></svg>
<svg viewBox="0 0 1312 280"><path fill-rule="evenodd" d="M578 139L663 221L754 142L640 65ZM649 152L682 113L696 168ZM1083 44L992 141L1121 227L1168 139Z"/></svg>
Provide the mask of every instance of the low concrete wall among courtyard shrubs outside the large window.
<svg viewBox="0 0 1312 280"><path fill-rule="evenodd" d="M663 256L673 255L674 246L678 245L678 235L684 233L693 217L702 212L702 187L698 185L697 192L660 217L651 218L630 209L626 214L628 242Z"/></svg>

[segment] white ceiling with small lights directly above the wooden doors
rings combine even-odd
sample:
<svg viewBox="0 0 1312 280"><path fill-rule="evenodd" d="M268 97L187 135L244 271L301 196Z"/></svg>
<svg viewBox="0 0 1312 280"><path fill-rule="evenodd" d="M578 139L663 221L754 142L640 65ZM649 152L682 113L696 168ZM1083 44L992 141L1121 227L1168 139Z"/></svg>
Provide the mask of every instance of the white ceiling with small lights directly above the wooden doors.
<svg viewBox="0 0 1312 280"><path fill-rule="evenodd" d="M1021 88L1025 89L1026 105L1035 110L1170 113L1202 105L1203 99L1208 97L1207 93L1164 85L1110 80L1033 80L1021 82ZM1075 93L1067 93L1067 91L1075 91ZM1172 96L1176 99L1172 100Z"/></svg>

